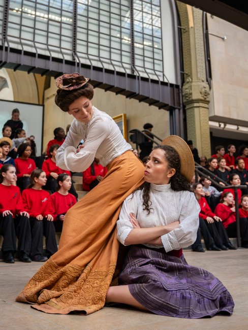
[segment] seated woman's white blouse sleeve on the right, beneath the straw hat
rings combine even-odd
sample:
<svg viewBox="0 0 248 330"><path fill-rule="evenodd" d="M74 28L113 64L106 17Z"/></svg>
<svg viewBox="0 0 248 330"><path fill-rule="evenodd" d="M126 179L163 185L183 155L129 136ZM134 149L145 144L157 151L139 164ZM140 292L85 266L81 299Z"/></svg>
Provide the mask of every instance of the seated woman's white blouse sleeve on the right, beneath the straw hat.
<svg viewBox="0 0 248 330"><path fill-rule="evenodd" d="M186 248L196 240L200 206L193 192L184 191L181 198L182 204L178 219L180 221L179 227L161 236L166 252Z"/></svg>

